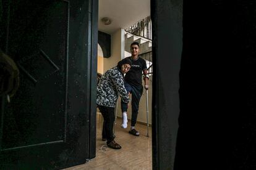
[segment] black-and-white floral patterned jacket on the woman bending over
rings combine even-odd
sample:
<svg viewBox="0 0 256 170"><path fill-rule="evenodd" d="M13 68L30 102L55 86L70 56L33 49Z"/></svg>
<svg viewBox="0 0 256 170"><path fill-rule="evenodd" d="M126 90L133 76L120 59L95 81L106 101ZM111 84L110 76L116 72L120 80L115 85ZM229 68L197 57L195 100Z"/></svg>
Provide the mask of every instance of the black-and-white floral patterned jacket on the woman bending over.
<svg viewBox="0 0 256 170"><path fill-rule="evenodd" d="M114 67L101 76L97 86L97 105L115 107L118 94L123 102L129 102L128 92L124 87L124 76L119 68Z"/></svg>

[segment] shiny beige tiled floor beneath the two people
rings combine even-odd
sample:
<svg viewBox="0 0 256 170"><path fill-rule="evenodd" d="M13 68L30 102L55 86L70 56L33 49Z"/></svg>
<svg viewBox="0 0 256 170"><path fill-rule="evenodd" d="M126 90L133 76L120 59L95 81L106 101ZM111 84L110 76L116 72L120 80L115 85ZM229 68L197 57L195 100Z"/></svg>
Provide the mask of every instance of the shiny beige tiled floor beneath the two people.
<svg viewBox="0 0 256 170"><path fill-rule="evenodd" d="M97 116L97 138L96 138L96 158L88 163L67 168L65 170L82 169L152 169L151 153L151 127L149 127L149 137L147 137L147 126L137 124L136 129L140 136L132 136L127 129L122 129L121 119L117 118L116 142L122 146L121 150L113 150L106 147L106 142L101 141L101 126L103 118ZM130 121L129 121L130 124Z"/></svg>

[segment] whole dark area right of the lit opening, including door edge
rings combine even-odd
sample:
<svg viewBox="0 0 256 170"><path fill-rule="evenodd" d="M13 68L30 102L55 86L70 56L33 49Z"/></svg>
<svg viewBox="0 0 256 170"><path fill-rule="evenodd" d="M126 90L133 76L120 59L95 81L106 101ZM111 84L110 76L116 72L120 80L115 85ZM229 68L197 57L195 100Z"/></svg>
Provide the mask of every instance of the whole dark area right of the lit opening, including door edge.
<svg viewBox="0 0 256 170"><path fill-rule="evenodd" d="M256 2L151 7L153 168L256 169Z"/></svg>

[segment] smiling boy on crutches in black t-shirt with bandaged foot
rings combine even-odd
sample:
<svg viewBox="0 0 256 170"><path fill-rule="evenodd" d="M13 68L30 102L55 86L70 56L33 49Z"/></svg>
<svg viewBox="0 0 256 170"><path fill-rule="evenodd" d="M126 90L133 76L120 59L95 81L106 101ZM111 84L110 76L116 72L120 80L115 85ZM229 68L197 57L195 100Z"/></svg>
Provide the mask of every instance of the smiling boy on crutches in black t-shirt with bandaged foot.
<svg viewBox="0 0 256 170"><path fill-rule="evenodd" d="M132 60L132 67L126 76L124 77L126 91L129 94L132 94L132 122L130 127L130 134L134 136L139 136L140 133L135 130L135 124L137 121L137 115L139 111L140 97L142 96L143 86L142 86L142 72L144 80L144 88L148 89L148 75L147 75L147 64L145 60L141 59L139 55L139 42L132 42L130 44L130 52L132 57L129 57ZM121 102L122 110L122 128L127 127L127 103Z"/></svg>

